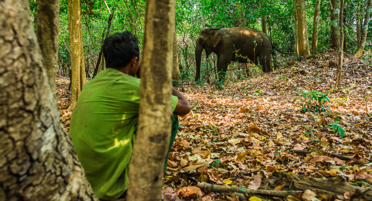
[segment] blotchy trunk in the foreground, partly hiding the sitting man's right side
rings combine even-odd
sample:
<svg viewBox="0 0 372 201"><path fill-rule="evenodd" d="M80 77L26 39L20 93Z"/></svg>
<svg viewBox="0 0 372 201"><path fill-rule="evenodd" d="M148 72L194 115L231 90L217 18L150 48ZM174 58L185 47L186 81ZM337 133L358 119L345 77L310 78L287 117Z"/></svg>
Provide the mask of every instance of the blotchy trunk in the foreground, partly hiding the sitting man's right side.
<svg viewBox="0 0 372 201"><path fill-rule="evenodd" d="M147 1L138 140L134 143L129 168L129 201L161 200L164 163L171 131L175 4L175 0Z"/></svg>

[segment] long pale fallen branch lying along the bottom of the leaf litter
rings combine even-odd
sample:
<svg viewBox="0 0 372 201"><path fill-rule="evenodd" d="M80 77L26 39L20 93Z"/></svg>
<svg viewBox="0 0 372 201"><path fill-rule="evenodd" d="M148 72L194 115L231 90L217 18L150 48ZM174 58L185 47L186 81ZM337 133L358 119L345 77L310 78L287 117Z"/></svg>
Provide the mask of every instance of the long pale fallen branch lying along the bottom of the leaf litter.
<svg viewBox="0 0 372 201"><path fill-rule="evenodd" d="M287 197L288 195L297 195L303 191L276 191L276 190L265 190L265 189L246 189L246 188L234 188L231 186L221 186L217 184L208 184L205 182L199 182L198 187L202 189L208 189L214 192L237 192L242 194L261 194L271 195L276 197Z"/></svg>

